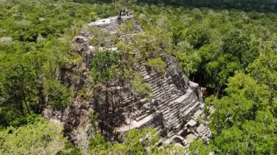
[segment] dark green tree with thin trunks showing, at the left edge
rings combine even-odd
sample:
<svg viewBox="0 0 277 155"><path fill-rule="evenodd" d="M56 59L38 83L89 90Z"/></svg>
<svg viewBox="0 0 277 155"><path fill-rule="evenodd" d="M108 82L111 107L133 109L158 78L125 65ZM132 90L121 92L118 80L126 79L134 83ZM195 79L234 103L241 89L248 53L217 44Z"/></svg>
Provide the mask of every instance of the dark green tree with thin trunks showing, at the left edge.
<svg viewBox="0 0 277 155"><path fill-rule="evenodd" d="M19 109L22 116L31 114L36 96L36 72L25 58L6 54L1 58L1 105Z"/></svg>

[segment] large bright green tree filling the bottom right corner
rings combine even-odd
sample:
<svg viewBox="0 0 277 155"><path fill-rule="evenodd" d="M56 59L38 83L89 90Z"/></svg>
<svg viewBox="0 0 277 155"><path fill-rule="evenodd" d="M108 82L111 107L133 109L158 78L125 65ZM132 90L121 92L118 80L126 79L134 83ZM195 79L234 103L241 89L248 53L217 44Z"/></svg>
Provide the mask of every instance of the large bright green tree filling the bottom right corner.
<svg viewBox="0 0 277 155"><path fill-rule="evenodd" d="M276 99L268 86L246 74L228 79L227 95L213 101L212 148L216 154L276 154L276 118L270 111Z"/></svg>

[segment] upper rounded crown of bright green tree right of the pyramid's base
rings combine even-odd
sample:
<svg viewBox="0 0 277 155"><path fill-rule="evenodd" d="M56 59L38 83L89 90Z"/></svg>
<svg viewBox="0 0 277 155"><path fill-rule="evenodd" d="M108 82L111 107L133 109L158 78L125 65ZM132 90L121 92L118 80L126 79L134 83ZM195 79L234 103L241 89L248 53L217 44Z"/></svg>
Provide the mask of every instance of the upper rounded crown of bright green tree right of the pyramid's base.
<svg viewBox="0 0 277 155"><path fill-rule="evenodd" d="M218 133L221 129L241 126L243 121L255 119L256 111L266 108L271 99L268 86L258 85L251 76L236 74L228 79L228 82L228 88L225 90L227 96L213 101L218 111L213 114L211 125Z"/></svg>

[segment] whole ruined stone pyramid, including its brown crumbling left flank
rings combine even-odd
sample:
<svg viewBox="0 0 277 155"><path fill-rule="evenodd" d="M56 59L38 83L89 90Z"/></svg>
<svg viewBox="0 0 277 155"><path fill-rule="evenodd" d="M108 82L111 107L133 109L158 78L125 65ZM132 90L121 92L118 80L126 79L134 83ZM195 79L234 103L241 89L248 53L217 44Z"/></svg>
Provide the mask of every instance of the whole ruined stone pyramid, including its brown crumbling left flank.
<svg viewBox="0 0 277 155"><path fill-rule="evenodd" d="M124 21L129 20L136 21L133 30L129 33L119 32ZM99 48L89 43L94 35L88 30L94 27L110 35L105 38L106 44ZM69 52L77 58L81 57L81 61L64 66L59 71L59 79L78 93L73 104L64 112L44 111L44 118L64 123L65 136L69 136L73 143L79 141L74 136L74 131L86 132L86 126L90 124L89 111L92 109L96 111L101 134L109 141L121 141L121 135L129 129L147 127L155 128L163 143L188 146L193 139L208 141L211 132L205 125L206 122L198 120L198 116L203 115L203 101L198 84L189 81L170 56L163 58L167 64L164 75L149 69L144 61L134 66L137 72L143 74L143 81L151 86L151 99L134 98L128 89L116 82L91 89L92 81L88 74L94 52L101 49L116 50L116 45L111 41L112 36L133 43L134 36L142 31L135 16L122 16L121 19L114 16L88 24L86 30L74 37L73 50ZM85 91L86 95L80 94L80 91ZM94 91L98 91L99 95L90 97Z"/></svg>

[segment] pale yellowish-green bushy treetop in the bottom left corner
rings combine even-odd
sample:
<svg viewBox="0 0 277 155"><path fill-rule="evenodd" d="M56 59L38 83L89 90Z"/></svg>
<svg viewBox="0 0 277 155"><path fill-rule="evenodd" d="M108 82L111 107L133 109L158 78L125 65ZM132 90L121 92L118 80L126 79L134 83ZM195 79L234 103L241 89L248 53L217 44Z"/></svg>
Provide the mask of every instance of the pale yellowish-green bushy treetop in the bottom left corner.
<svg viewBox="0 0 277 155"><path fill-rule="evenodd" d="M66 138L61 124L36 121L18 129L0 131L1 154L56 154L64 150Z"/></svg>

